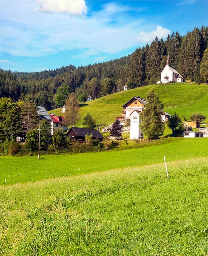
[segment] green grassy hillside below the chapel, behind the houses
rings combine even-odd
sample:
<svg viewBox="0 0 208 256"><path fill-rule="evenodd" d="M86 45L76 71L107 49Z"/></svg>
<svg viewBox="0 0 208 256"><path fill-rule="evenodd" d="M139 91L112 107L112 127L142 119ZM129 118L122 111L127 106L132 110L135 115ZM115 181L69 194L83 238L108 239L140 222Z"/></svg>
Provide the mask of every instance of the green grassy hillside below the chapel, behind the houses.
<svg viewBox="0 0 208 256"><path fill-rule="evenodd" d="M187 119L193 113L201 112L208 116L208 86L197 84L161 84L148 85L136 89L114 93L91 102L81 104L81 117L83 118L87 113L90 113L96 119L97 124L115 121L116 116L122 114L122 106L128 102L133 96L140 96L145 98L146 93L151 88L154 88L160 100L164 104L164 109L168 113L179 113L180 116L186 115ZM207 97L205 97L207 96ZM194 104L193 104L194 103ZM179 107L184 106L186 107ZM175 108L177 107L177 108ZM49 111L49 113L60 113L61 108ZM82 125L83 120L80 120L78 125Z"/></svg>

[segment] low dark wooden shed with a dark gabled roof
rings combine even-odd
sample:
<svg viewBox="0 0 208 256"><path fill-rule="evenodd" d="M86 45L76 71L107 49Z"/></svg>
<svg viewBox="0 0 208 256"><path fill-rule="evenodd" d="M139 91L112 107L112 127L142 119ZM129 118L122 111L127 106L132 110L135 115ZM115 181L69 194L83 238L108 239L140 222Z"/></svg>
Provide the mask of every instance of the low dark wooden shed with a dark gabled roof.
<svg viewBox="0 0 208 256"><path fill-rule="evenodd" d="M87 128L79 128L79 127L71 127L70 130L67 132L66 136L71 137L72 141L85 141L86 135L92 134L92 139L99 139L100 141L103 140L103 135L100 131L96 129L87 129Z"/></svg>

